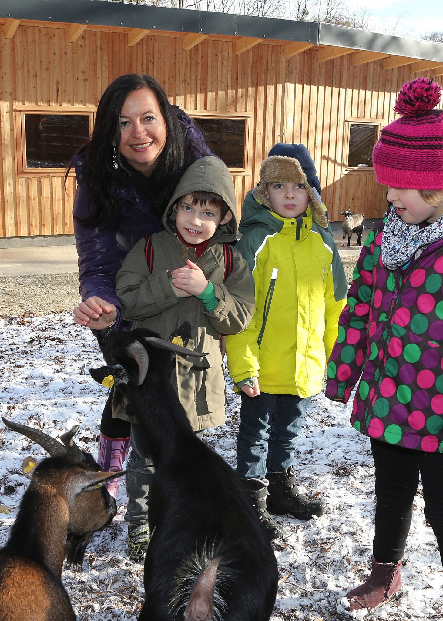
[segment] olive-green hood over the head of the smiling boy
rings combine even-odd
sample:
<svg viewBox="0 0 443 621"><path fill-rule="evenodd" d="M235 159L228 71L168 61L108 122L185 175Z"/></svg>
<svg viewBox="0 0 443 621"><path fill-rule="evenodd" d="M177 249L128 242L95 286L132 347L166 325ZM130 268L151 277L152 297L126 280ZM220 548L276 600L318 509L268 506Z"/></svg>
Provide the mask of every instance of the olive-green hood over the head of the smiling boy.
<svg viewBox="0 0 443 621"><path fill-rule="evenodd" d="M234 182L226 164L213 155L194 161L181 176L163 215L163 226L175 233L175 203L186 194L201 191L219 194L232 212L231 220L219 225L212 238L215 242L233 242L239 230Z"/></svg>

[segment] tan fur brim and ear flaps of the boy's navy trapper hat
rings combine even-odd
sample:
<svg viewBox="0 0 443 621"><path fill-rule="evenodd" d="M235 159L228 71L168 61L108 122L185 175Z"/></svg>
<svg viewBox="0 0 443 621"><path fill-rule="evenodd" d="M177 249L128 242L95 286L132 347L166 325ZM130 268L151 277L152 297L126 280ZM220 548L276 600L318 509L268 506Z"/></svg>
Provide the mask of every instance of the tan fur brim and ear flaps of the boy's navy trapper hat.
<svg viewBox="0 0 443 621"><path fill-rule="evenodd" d="M271 203L265 194L266 184L278 182L303 183L304 187L308 190L309 206L311 207L314 222L322 227L322 229L327 229L326 213L309 185L298 160L283 155L272 155L262 161L262 165L260 166L260 183L255 187L253 193L255 198L271 211Z"/></svg>

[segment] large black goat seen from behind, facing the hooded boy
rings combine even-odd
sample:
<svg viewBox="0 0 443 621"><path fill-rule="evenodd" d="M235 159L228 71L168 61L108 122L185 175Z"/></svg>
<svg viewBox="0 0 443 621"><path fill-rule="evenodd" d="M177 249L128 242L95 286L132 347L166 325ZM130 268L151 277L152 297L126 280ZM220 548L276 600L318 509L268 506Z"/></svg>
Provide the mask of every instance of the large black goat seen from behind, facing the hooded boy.
<svg viewBox="0 0 443 621"><path fill-rule="evenodd" d="M272 547L237 474L193 433L170 384L175 355L204 354L144 329L98 339L109 366L89 373L114 378L113 407L140 425L155 466L139 621L268 621Z"/></svg>

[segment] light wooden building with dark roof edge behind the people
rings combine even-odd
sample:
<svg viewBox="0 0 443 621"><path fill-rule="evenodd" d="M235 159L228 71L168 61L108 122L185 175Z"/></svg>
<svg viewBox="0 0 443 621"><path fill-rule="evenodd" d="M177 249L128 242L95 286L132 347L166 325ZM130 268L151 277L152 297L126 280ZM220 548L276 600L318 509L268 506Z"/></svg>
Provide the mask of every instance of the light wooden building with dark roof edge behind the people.
<svg viewBox="0 0 443 621"><path fill-rule="evenodd" d="M219 149L239 210L276 142L313 155L331 220L380 217L370 153L401 85L443 46L330 24L97 0L0 0L0 237L73 233L64 166L124 73L150 73ZM441 105L441 104L440 104Z"/></svg>

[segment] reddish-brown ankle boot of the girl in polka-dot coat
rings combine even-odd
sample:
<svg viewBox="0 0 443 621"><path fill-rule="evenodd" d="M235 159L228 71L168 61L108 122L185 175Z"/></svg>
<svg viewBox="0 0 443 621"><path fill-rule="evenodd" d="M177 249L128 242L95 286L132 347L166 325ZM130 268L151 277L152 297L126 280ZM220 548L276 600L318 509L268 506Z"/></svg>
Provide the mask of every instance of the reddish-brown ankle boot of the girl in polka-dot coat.
<svg viewBox="0 0 443 621"><path fill-rule="evenodd" d="M371 562L372 572L367 581L347 593L347 610L374 610L401 596L401 560L378 563L372 555Z"/></svg>

